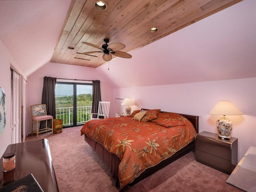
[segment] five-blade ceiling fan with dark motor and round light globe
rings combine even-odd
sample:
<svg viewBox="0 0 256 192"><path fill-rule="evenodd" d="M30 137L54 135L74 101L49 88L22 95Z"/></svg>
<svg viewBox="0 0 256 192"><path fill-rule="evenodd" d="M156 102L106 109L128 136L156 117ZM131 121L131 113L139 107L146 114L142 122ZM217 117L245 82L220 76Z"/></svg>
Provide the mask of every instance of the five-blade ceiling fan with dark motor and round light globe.
<svg viewBox="0 0 256 192"><path fill-rule="evenodd" d="M78 54L92 54L92 53L103 53L103 60L110 61L112 59L112 55L122 57L122 58L132 58L132 56L126 52L122 52L119 50L122 50L125 48L125 45L122 43L112 43L108 45L109 39L104 39L105 44L102 45L102 47L98 45L94 45L87 42L82 42L88 46L92 46L94 48L98 48L100 51L89 51L84 53L78 53Z"/></svg>

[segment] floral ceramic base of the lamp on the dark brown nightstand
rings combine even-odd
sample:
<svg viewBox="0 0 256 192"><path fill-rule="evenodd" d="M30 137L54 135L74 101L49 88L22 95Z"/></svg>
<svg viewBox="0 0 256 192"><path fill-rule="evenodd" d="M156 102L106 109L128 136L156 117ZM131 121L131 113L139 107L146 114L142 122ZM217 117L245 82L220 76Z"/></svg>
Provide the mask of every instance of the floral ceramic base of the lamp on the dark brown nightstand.
<svg viewBox="0 0 256 192"><path fill-rule="evenodd" d="M218 136L222 139L230 139L232 131L232 122L223 116L217 120Z"/></svg>

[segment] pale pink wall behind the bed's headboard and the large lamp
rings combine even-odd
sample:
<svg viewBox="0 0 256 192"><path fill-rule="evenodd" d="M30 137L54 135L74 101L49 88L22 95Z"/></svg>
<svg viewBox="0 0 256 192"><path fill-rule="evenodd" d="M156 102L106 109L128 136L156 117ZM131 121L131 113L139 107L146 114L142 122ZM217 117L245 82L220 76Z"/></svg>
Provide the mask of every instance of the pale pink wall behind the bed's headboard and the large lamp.
<svg viewBox="0 0 256 192"><path fill-rule="evenodd" d="M238 161L250 146L256 146L256 78L198 82L163 86L118 88L114 98L130 97L140 108L161 109L199 116L199 132L217 133L210 110L219 100L230 100L244 115L227 116L233 122L232 137L238 138Z"/></svg>

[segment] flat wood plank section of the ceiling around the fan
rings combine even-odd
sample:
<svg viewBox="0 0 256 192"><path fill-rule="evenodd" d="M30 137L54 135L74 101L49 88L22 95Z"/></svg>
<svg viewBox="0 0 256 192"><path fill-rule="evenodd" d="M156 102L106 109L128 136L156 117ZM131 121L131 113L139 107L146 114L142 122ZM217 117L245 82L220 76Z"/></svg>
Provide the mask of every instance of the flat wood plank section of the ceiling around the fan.
<svg viewBox="0 0 256 192"><path fill-rule="evenodd" d="M132 55L132 50L240 1L242 0L104 0L108 8L100 11L94 8L96 0L72 0L50 61L96 68L106 62L102 59L103 53L78 54L99 51L82 42L101 47L104 38L108 38L109 44L125 44L126 48L121 51ZM158 31L150 33L149 29L152 27L157 27Z"/></svg>

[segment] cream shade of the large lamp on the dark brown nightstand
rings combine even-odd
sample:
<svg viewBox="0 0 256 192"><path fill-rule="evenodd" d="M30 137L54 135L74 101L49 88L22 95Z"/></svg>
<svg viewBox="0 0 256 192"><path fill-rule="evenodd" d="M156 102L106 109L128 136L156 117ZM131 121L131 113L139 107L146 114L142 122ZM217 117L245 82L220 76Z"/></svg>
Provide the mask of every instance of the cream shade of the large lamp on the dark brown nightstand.
<svg viewBox="0 0 256 192"><path fill-rule="evenodd" d="M240 111L234 104L230 101L219 101L209 114L212 115L243 115L244 113Z"/></svg>

